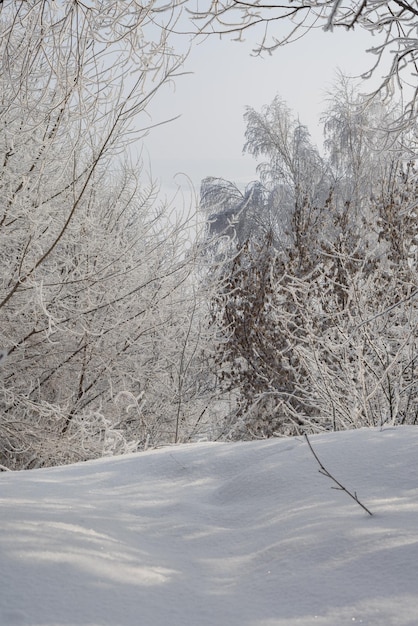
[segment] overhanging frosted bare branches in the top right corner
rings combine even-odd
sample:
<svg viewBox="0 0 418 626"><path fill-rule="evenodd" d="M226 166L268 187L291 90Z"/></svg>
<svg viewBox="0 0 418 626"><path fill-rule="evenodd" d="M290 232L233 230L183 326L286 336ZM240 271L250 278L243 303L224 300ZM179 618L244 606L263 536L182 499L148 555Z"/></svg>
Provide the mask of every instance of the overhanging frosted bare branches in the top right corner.
<svg viewBox="0 0 418 626"><path fill-rule="evenodd" d="M283 0L245 2L208 0L192 11L199 33L232 35L243 39L249 30L256 32L255 52L272 53L322 28L362 28L373 36L368 52L373 56L363 78L383 76L378 90L385 97L398 89L403 99L402 115L395 127L416 119L418 108L418 6L409 0Z"/></svg>

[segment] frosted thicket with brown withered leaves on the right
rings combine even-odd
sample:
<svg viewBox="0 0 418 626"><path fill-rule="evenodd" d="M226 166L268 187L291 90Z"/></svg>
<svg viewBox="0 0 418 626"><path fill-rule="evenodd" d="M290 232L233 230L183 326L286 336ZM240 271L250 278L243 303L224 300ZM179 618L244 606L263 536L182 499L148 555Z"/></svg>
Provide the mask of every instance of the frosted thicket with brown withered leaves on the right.
<svg viewBox="0 0 418 626"><path fill-rule="evenodd" d="M346 87L324 116L326 157L276 98L246 113L258 204L226 215L231 185L203 186L230 436L418 420L416 170L406 134L375 130L394 112Z"/></svg>

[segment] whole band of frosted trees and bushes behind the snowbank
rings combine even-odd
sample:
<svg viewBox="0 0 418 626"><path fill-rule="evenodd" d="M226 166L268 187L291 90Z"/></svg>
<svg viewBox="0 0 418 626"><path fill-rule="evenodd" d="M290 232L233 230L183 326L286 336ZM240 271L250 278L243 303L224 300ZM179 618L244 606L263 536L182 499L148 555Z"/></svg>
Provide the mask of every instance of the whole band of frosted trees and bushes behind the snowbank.
<svg viewBox="0 0 418 626"><path fill-rule="evenodd" d="M186 215L132 149L167 6L1 4L3 469L417 422L415 126L342 79L320 152L278 96Z"/></svg>

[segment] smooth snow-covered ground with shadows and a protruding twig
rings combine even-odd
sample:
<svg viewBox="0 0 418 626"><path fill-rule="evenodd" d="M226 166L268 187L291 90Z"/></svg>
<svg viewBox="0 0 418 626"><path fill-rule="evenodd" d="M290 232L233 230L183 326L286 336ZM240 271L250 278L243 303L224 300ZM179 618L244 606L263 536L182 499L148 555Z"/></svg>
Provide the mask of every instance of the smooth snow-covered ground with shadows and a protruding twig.
<svg viewBox="0 0 418 626"><path fill-rule="evenodd" d="M0 475L1 626L417 626L418 428Z"/></svg>

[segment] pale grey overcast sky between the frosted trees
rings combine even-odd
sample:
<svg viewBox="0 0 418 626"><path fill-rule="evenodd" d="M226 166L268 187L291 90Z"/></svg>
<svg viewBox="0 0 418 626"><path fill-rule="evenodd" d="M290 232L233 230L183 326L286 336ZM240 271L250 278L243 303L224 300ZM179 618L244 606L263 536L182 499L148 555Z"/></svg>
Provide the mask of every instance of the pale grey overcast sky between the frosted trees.
<svg viewBox="0 0 418 626"><path fill-rule="evenodd" d="M154 123L181 116L145 139L145 156L166 193L177 184L187 187L182 173L197 191L206 176L239 185L254 180L256 162L242 155L245 106L260 110L276 95L322 143L319 117L337 70L359 75L374 60L365 50L375 40L360 30L316 30L263 58L251 56L254 42L211 37L194 45L184 67L192 74L178 78L175 88L166 87L154 100Z"/></svg>

